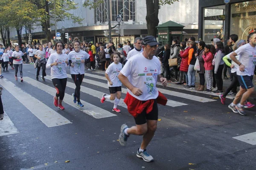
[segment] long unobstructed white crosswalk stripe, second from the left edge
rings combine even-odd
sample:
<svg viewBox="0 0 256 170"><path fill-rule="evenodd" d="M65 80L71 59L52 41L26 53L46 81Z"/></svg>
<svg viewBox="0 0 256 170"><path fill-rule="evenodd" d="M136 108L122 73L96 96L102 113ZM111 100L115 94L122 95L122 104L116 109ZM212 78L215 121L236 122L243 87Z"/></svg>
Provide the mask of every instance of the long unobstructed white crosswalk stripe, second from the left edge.
<svg viewBox="0 0 256 170"><path fill-rule="evenodd" d="M9 82L9 80L4 79L1 81L1 85L47 127L55 127L71 123L68 119L49 108L43 102L26 93L21 88L18 88L12 82Z"/></svg>

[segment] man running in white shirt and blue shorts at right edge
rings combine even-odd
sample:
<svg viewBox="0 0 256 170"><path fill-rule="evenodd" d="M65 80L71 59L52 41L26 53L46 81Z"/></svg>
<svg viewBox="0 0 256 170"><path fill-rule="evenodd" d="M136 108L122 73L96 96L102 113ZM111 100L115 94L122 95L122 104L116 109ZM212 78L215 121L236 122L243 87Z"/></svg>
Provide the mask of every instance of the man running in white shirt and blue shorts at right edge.
<svg viewBox="0 0 256 170"><path fill-rule="evenodd" d="M239 65L236 74L239 80L240 90L228 108L243 116L246 116L244 102L254 92L253 75L256 65L256 32L249 34L249 41L249 43L230 54L230 58ZM240 55L239 60L236 59L237 55Z"/></svg>

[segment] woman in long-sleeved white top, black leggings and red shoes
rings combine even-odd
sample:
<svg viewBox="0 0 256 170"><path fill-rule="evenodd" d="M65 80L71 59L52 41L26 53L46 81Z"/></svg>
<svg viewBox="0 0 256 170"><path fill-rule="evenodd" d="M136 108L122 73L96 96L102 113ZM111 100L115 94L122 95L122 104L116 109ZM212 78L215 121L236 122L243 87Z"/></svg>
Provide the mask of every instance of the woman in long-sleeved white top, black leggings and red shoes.
<svg viewBox="0 0 256 170"><path fill-rule="evenodd" d="M57 42L55 44L57 53L51 54L46 64L46 68L51 68L52 83L57 90L56 96L53 97L53 104L61 110L65 109L62 106L62 100L64 98L65 89L67 85L66 68L68 65L67 54L62 53L63 47L63 42Z"/></svg>

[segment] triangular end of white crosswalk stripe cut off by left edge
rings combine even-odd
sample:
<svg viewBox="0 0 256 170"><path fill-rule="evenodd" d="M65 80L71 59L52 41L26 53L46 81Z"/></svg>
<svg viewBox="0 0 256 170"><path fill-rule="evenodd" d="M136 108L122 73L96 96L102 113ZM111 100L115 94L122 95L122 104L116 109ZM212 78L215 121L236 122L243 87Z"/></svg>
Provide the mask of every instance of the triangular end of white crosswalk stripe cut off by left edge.
<svg viewBox="0 0 256 170"><path fill-rule="evenodd" d="M5 111L4 111L5 112ZM4 113L3 120L0 120L0 136L19 133L9 116Z"/></svg>

